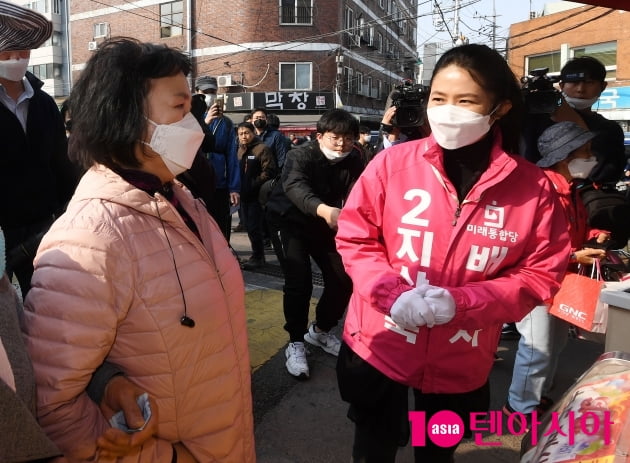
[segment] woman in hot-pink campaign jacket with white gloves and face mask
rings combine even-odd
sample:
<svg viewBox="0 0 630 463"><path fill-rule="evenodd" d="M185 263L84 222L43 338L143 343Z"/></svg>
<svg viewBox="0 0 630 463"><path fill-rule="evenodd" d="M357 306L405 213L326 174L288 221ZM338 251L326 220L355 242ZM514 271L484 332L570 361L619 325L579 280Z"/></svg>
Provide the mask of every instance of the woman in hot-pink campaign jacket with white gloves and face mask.
<svg viewBox="0 0 630 463"><path fill-rule="evenodd" d="M409 387L425 424L450 410L466 428L470 412L487 411L502 324L558 290L568 226L541 169L515 156L521 108L497 52L446 52L431 82L432 135L376 156L342 209L337 247L354 293L337 373L354 462L395 461ZM454 461L459 440L442 437L415 446L415 461Z"/></svg>

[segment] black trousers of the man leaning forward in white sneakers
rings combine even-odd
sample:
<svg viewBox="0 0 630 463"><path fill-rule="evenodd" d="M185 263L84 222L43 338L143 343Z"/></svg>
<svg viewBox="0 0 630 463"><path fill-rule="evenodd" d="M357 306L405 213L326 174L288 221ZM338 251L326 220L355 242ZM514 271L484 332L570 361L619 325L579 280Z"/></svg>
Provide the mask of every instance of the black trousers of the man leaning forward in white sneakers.
<svg viewBox="0 0 630 463"><path fill-rule="evenodd" d="M267 214L267 220L284 273L284 329L291 342L303 342L313 292L311 258L324 280L324 290L315 309L319 329L328 331L343 317L352 294L352 280L335 248L335 232L326 222L291 223L273 213Z"/></svg>

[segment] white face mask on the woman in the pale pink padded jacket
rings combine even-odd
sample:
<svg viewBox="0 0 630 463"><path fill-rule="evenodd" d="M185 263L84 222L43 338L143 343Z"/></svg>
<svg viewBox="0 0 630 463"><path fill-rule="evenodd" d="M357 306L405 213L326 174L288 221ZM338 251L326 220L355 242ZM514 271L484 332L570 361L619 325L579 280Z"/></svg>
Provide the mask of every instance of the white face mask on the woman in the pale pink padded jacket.
<svg viewBox="0 0 630 463"><path fill-rule="evenodd" d="M173 175L179 175L192 166L195 155L203 142L204 133L197 119L188 113L173 124L156 124L151 142L142 142L162 156L162 161Z"/></svg>

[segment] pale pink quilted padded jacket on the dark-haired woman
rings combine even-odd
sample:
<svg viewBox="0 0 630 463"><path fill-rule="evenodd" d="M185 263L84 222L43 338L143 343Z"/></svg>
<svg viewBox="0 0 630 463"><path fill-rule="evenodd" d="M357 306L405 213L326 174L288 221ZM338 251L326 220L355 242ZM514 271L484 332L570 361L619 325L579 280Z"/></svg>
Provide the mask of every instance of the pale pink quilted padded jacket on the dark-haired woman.
<svg viewBox="0 0 630 463"><path fill-rule="evenodd" d="M200 462L255 461L242 274L203 204L174 190L203 243L164 197L100 166L38 250L24 325L38 415L72 457L109 426L85 393L107 360L159 408L159 439L120 461L170 462L172 442Z"/></svg>

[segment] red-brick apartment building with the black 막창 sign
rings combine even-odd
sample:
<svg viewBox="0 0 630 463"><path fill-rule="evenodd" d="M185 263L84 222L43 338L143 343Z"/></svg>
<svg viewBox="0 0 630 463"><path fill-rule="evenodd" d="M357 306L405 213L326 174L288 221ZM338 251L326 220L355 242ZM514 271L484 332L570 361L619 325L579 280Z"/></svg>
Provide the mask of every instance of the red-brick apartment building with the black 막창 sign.
<svg viewBox="0 0 630 463"><path fill-rule="evenodd" d="M413 0L72 0L72 79L129 36L189 54L191 83L217 77L235 120L262 106L312 128L343 105L376 124L391 88L416 79L416 16Z"/></svg>

